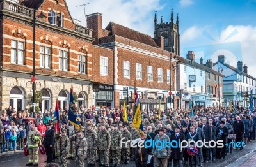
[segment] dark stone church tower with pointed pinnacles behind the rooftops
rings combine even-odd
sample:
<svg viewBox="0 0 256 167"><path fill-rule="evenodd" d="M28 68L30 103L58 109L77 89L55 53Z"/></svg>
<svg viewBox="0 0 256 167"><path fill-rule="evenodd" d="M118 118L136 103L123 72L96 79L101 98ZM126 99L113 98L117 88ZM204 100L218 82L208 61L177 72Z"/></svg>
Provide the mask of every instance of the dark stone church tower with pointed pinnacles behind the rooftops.
<svg viewBox="0 0 256 167"><path fill-rule="evenodd" d="M173 11L171 13L170 22L164 22L161 17L160 24L157 23L157 15L155 13L154 21L154 38L163 36L164 38L164 50L174 52L176 55L180 55L180 34L179 34L179 17L177 15L176 24L173 21Z"/></svg>

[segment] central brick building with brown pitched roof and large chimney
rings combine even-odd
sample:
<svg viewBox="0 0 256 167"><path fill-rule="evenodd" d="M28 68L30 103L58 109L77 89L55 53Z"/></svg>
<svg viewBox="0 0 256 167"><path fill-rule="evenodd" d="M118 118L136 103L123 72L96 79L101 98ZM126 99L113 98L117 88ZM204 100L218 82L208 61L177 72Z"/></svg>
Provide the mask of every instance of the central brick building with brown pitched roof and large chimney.
<svg viewBox="0 0 256 167"><path fill-rule="evenodd" d="M102 14L100 13L87 15L87 27L93 31L92 36L95 38L93 44L113 50L111 58L102 55L99 66L97 68L93 66L95 67L93 76L100 73L97 82L94 80L93 89L99 91L102 88L102 93L108 94L104 92L107 91L106 87L109 87L109 90L113 88L113 107L119 108L122 106L123 100L127 99L127 94L123 92L124 88L128 87L129 99L134 99L134 80L136 80L137 91L141 99L162 99L170 102L168 100L170 57L174 57L174 54L163 49L163 38L159 37L153 40L147 34L113 22L109 22L108 26L102 29ZM109 61L113 62L109 63ZM106 66L106 62L109 66ZM175 66L176 62L177 60L172 59L172 66ZM106 76L109 77L108 80L102 79ZM174 94L176 90L174 70L172 70L171 76L171 91ZM100 87L100 85L102 86ZM99 92L93 92L93 94L101 96ZM171 102L172 107L176 108L177 100L172 98ZM153 108L157 103L144 104L142 107ZM109 106L111 103L95 99L93 105Z"/></svg>

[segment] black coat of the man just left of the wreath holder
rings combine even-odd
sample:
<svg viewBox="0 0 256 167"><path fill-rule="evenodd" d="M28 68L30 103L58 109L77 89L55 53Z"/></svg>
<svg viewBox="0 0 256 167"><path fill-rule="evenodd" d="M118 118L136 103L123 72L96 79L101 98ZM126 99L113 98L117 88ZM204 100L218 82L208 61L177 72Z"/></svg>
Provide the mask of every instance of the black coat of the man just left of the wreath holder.
<svg viewBox="0 0 256 167"><path fill-rule="evenodd" d="M175 141L177 141L177 143L179 143L179 140L180 140L180 142L182 142L183 140L186 140L186 138L185 138L184 134L182 134L182 133L179 133L179 135L176 138L176 133L173 133L171 135L170 141L173 141L173 140L175 140ZM173 143L172 145L175 145L175 143ZM182 160L184 151L185 151L185 148L182 149L182 152L180 152L180 148L171 147L171 157L172 157L172 159Z"/></svg>

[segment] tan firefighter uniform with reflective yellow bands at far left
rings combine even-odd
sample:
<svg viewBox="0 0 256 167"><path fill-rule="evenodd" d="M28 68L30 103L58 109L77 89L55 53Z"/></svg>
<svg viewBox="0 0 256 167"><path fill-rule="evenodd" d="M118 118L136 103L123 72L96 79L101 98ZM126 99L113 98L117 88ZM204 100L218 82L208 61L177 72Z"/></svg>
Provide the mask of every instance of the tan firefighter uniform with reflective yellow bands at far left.
<svg viewBox="0 0 256 167"><path fill-rule="evenodd" d="M29 164L38 164L38 143L41 140L42 135L41 133L36 129L31 129L28 133L27 143L28 145L28 152L29 152ZM34 165L35 165L34 164Z"/></svg>

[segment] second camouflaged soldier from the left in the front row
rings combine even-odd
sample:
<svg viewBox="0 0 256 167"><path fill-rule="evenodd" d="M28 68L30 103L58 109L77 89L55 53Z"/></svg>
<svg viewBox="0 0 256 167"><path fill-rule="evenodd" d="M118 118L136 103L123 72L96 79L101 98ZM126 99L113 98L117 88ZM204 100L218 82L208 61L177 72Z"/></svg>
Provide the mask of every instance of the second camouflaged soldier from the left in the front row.
<svg viewBox="0 0 256 167"><path fill-rule="evenodd" d="M71 141L76 140L76 166L84 167L84 158L87 152L87 140L84 138L83 129L77 131L77 134L73 134L70 137Z"/></svg>

